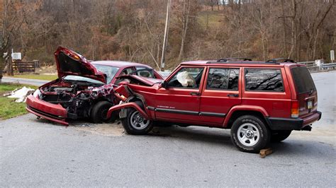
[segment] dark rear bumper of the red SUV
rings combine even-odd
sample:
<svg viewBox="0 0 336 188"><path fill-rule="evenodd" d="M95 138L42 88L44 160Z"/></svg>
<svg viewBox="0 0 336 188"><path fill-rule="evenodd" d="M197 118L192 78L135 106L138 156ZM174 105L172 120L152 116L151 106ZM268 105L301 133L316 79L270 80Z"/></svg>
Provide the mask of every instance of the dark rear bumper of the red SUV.
<svg viewBox="0 0 336 188"><path fill-rule="evenodd" d="M302 130L313 122L320 120L321 116L322 112L316 111L303 118L266 117L266 120L271 130Z"/></svg>

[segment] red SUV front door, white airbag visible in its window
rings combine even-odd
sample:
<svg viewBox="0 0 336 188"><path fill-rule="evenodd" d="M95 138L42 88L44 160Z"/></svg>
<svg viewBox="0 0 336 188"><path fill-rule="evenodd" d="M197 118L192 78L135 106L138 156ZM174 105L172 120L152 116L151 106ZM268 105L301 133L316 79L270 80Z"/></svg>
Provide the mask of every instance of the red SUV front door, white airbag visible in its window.
<svg viewBox="0 0 336 188"><path fill-rule="evenodd" d="M201 122L199 104L204 66L181 66L170 76L167 88L157 90L155 117Z"/></svg>

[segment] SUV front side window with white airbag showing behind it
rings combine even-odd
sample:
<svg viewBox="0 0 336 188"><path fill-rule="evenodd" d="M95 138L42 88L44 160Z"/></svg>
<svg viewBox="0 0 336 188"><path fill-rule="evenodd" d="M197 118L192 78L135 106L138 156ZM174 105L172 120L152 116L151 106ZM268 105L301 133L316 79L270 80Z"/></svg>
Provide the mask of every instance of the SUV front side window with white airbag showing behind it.
<svg viewBox="0 0 336 188"><path fill-rule="evenodd" d="M182 68L168 82L173 88L199 88L204 68Z"/></svg>

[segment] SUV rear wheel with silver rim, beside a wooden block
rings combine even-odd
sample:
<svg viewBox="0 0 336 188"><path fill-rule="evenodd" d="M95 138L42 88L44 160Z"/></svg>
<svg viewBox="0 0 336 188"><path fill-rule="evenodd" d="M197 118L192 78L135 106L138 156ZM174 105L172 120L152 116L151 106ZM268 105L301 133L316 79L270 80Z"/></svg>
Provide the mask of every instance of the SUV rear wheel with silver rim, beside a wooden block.
<svg viewBox="0 0 336 188"><path fill-rule="evenodd" d="M270 139L271 133L259 117L252 115L238 117L231 127L231 140L240 151L259 153Z"/></svg>

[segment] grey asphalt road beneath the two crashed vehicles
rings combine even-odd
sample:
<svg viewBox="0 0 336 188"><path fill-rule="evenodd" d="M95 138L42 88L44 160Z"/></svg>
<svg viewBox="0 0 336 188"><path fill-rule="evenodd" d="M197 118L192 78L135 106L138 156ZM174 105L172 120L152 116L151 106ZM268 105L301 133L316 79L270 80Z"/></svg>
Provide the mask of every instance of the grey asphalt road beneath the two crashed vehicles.
<svg viewBox="0 0 336 188"><path fill-rule="evenodd" d="M335 187L336 71L313 78L323 119L271 145L266 158L237 151L222 129L130 136L120 124L0 121L0 187Z"/></svg>

